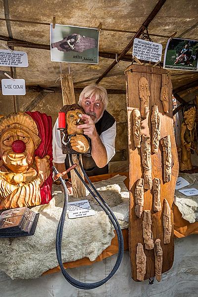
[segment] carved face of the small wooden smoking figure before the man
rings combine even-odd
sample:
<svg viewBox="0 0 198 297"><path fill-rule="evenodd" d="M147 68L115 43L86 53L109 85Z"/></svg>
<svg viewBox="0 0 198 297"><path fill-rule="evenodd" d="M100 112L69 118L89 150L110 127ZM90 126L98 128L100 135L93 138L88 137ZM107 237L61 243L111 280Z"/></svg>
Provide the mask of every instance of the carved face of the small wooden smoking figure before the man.
<svg viewBox="0 0 198 297"><path fill-rule="evenodd" d="M81 109L69 110L66 113L66 122L67 122L67 134L83 134L83 129L77 128L78 125L76 124L77 120L79 119L79 114L82 114Z"/></svg>

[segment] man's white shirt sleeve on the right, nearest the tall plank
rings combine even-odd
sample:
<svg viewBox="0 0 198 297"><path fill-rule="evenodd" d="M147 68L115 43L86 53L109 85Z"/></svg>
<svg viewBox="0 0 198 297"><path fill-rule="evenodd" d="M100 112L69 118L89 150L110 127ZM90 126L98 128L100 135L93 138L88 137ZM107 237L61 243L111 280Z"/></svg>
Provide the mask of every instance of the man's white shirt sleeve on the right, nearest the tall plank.
<svg viewBox="0 0 198 297"><path fill-rule="evenodd" d="M116 137L116 122L106 131L102 132L99 136L102 144L106 148L107 163L115 154L115 137Z"/></svg>

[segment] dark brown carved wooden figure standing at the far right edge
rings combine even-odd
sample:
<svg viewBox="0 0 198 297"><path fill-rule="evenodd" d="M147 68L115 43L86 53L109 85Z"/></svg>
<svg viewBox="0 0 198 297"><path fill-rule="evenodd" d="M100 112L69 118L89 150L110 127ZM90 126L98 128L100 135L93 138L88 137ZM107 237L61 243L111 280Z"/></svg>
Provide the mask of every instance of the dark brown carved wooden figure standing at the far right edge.
<svg viewBox="0 0 198 297"><path fill-rule="evenodd" d="M180 170L191 170L191 150L194 148L194 133L196 129L196 105L190 104L184 112L184 120L181 125L181 162Z"/></svg>

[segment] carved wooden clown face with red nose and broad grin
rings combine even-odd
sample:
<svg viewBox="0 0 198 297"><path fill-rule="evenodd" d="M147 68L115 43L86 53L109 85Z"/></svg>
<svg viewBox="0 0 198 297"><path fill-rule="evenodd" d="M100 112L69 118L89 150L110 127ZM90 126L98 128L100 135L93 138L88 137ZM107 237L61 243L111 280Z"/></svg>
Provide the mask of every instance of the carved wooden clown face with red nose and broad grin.
<svg viewBox="0 0 198 297"><path fill-rule="evenodd" d="M15 152L15 141L21 141L21 152ZM2 134L0 138L0 157L4 165L14 173L26 171L34 161L35 145L27 132L19 128L12 128Z"/></svg>

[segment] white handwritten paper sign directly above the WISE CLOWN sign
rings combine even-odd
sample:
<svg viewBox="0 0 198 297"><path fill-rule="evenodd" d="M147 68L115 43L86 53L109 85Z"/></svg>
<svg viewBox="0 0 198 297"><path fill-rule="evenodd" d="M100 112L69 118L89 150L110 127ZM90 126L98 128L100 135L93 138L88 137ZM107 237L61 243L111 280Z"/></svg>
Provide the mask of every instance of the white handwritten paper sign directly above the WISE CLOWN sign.
<svg viewBox="0 0 198 297"><path fill-rule="evenodd" d="M0 49L0 66L28 67L27 52Z"/></svg>

